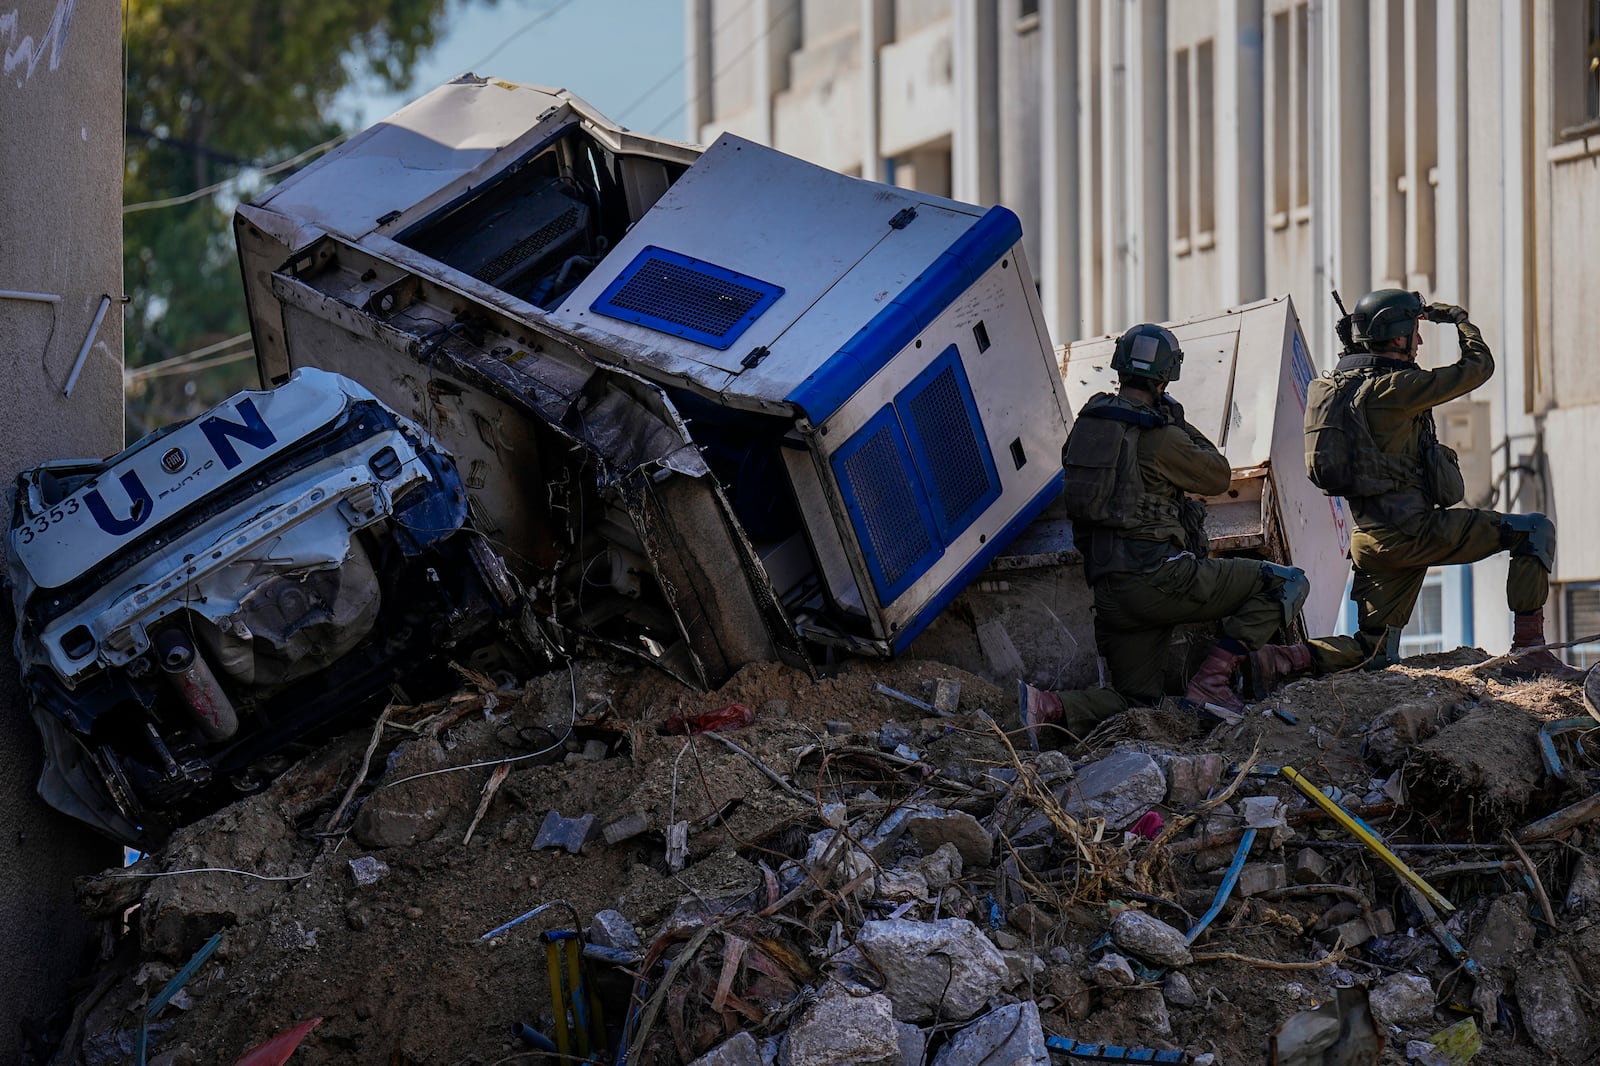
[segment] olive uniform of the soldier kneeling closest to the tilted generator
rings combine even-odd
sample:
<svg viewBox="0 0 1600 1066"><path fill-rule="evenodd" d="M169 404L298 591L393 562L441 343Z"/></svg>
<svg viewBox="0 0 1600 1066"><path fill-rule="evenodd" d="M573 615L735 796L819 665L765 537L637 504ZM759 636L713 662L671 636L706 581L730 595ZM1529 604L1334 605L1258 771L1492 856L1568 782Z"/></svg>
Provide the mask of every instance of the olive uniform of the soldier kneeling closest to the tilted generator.
<svg viewBox="0 0 1600 1066"><path fill-rule="evenodd" d="M1115 403L1160 421L1138 440L1146 499L1133 528L1074 525L1094 589L1094 643L1110 674L1109 688L1056 693L1059 725L1078 736L1130 703L1154 704L1165 695L1166 650L1173 629L1186 623L1221 623L1224 643L1240 653L1262 647L1285 623L1283 571L1253 559L1203 559L1190 551L1179 520L1187 493L1227 491L1232 471L1205 434L1181 411L1126 395L1099 394L1085 403L1078 424L1096 405ZM1074 432L1078 426L1074 426ZM1293 595L1293 594L1291 594ZM1293 608L1298 610L1294 599Z"/></svg>

